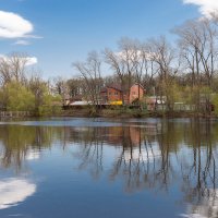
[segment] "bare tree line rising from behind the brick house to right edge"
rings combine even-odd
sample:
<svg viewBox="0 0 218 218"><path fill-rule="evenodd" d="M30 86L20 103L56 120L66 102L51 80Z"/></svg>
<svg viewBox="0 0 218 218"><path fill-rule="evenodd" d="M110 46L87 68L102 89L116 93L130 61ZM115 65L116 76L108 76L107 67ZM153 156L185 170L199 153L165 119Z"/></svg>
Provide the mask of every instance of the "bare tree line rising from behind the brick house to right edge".
<svg viewBox="0 0 218 218"><path fill-rule="evenodd" d="M166 36L146 41L121 38L117 52L106 48L88 53L86 61L74 62L84 93L97 101L99 87L108 83L119 82L123 93L132 83L140 83L146 95L165 98L168 111L174 102L183 102L210 112L218 99L218 16L191 20L171 32L173 41ZM101 65L111 76L102 77Z"/></svg>

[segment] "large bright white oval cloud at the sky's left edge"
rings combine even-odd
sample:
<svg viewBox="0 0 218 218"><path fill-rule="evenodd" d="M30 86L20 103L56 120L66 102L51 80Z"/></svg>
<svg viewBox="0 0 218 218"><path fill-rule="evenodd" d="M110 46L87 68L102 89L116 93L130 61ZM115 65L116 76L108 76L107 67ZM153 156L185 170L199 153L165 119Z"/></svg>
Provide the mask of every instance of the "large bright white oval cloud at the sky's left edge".
<svg viewBox="0 0 218 218"><path fill-rule="evenodd" d="M33 24L21 15L0 11L0 38L28 37L33 31Z"/></svg>

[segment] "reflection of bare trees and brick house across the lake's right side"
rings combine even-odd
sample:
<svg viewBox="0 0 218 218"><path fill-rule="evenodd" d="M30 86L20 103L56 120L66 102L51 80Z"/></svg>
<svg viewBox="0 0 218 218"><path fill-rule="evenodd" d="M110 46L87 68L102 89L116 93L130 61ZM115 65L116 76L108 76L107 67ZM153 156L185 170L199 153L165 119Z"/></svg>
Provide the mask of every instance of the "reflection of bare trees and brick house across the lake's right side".
<svg viewBox="0 0 218 218"><path fill-rule="evenodd" d="M80 167L98 178L104 172L102 143L117 146L120 155L113 160L109 180L122 180L129 193L146 189L168 192L180 181L183 201L189 203L189 211L182 216L217 217L217 128L209 121L194 120L145 128L86 129L81 135L81 143L85 138L83 149L76 156Z"/></svg>

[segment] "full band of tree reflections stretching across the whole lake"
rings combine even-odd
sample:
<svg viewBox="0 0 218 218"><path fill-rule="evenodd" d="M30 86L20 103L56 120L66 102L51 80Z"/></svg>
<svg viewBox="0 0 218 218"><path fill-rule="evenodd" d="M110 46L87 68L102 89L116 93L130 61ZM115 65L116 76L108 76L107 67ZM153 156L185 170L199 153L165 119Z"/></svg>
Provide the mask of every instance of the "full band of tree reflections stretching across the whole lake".
<svg viewBox="0 0 218 218"><path fill-rule="evenodd" d="M121 180L128 193L168 193L179 184L189 204L181 216L217 217L217 132L218 124L202 120L98 128L5 125L0 128L1 166L21 170L29 154L40 155L57 142L63 149L73 144L78 169L94 179L107 174L110 181ZM108 147L114 150L109 170Z"/></svg>

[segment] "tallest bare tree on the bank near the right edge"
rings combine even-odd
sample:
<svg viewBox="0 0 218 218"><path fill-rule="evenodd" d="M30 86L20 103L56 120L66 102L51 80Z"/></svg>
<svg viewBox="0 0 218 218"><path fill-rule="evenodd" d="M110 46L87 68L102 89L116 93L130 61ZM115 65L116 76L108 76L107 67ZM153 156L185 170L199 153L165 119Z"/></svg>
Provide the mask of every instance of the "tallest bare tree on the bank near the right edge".
<svg viewBox="0 0 218 218"><path fill-rule="evenodd" d="M179 36L181 57L191 76L193 90L197 90L196 106L201 109L201 89L213 87L213 78L218 64L218 28L215 19L189 21L174 29ZM206 110L209 109L209 96L205 98Z"/></svg>

